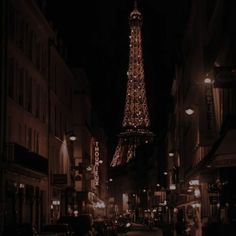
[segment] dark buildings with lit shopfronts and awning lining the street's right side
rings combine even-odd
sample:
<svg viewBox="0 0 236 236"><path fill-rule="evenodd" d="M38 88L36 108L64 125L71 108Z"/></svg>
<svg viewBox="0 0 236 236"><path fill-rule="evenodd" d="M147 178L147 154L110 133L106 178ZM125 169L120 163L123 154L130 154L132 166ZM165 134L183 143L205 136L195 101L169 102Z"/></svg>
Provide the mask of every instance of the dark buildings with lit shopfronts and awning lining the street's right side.
<svg viewBox="0 0 236 236"><path fill-rule="evenodd" d="M192 2L173 83L173 206L189 222L200 215L203 226L235 219L235 7L232 1Z"/></svg>

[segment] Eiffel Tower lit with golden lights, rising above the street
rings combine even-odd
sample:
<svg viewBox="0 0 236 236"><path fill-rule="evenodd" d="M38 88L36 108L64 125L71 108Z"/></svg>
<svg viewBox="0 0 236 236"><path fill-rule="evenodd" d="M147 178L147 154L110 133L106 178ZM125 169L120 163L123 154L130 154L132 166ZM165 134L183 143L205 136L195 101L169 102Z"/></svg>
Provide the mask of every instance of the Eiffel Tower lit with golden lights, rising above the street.
<svg viewBox="0 0 236 236"><path fill-rule="evenodd" d="M124 118L122 132L118 136L118 144L111 162L112 167L129 162L134 158L136 148L142 143L151 142L154 137L149 130L150 120L142 57L142 20L142 14L138 11L135 2L129 17L131 33Z"/></svg>

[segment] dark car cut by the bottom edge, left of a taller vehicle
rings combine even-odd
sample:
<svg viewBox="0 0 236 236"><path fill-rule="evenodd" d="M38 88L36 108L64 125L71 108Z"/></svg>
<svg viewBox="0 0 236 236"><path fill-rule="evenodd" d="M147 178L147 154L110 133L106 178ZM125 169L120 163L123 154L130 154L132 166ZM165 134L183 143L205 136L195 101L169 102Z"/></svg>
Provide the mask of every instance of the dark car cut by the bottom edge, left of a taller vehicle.
<svg viewBox="0 0 236 236"><path fill-rule="evenodd" d="M48 224L42 227L40 236L68 236L72 235L68 224Z"/></svg>

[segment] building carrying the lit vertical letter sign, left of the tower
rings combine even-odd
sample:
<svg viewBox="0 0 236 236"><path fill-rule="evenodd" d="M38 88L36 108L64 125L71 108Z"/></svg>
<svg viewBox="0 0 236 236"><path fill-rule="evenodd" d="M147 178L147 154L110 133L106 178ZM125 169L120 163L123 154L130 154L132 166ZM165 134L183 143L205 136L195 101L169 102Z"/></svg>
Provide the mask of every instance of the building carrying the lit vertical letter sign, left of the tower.
<svg viewBox="0 0 236 236"><path fill-rule="evenodd" d="M78 68L73 71L78 83L73 98L73 130L78 137L73 143L76 208L78 213L104 216L108 170L106 135L96 124L85 71Z"/></svg>

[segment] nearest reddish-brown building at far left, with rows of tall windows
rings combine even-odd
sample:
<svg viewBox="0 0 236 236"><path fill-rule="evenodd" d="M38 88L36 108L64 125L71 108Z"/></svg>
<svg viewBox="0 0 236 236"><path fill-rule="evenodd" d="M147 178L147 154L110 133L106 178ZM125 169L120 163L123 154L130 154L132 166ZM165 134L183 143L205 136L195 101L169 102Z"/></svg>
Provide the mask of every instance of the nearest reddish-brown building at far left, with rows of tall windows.
<svg viewBox="0 0 236 236"><path fill-rule="evenodd" d="M4 7L2 222L39 226L48 220L49 208L48 40L53 31L33 2L7 1Z"/></svg>

